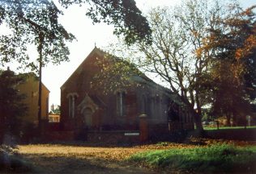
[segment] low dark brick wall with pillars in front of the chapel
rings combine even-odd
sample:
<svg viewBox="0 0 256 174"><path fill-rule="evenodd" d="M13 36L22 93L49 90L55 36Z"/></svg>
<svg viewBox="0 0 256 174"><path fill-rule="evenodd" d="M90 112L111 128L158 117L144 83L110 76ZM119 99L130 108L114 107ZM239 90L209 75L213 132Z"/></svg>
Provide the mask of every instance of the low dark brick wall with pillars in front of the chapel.
<svg viewBox="0 0 256 174"><path fill-rule="evenodd" d="M148 124L147 118L140 118L137 131L60 131L58 123L48 125L49 131L45 134L47 141L81 140L92 143L143 143L149 141L168 140L172 132L183 129L190 130L194 124L181 122L166 122L162 124Z"/></svg>

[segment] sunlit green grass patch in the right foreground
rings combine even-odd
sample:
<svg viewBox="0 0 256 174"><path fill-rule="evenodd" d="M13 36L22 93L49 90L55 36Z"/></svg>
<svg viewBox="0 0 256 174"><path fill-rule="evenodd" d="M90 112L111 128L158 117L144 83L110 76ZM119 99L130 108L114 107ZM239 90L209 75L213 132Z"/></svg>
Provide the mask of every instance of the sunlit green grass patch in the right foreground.
<svg viewBox="0 0 256 174"><path fill-rule="evenodd" d="M217 144L211 147L148 151L132 155L130 161L156 168L186 172L255 172L255 148Z"/></svg>

